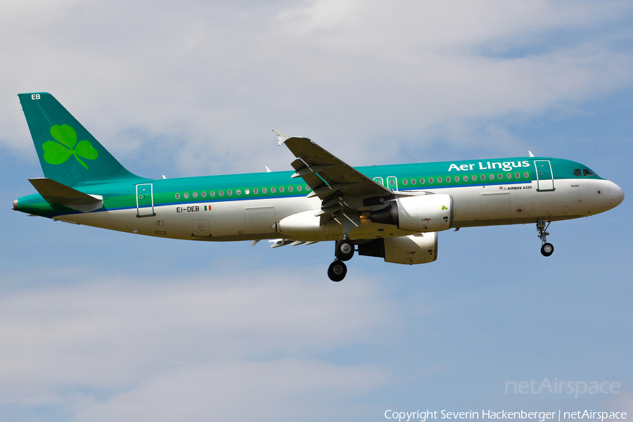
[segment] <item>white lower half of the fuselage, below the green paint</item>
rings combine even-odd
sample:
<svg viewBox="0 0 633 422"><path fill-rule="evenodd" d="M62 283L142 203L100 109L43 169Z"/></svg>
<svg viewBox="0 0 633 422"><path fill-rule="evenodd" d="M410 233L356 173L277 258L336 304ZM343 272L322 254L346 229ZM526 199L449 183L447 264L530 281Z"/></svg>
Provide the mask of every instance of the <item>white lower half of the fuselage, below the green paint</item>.
<svg viewBox="0 0 633 422"><path fill-rule="evenodd" d="M455 186L424 189L445 193L454 201L452 227L534 223L588 217L620 203L618 186L603 179L556 179L554 191L537 191L537 181L521 184ZM205 206L207 210L205 210ZM246 241L293 238L297 241L338 240L343 226L331 220L321 230L286 236L274 230L279 220L299 212L320 210L319 198L294 197L245 199L209 203L155 206L154 214L138 217L136 208L103 210L53 217L129 233L199 241ZM360 226L350 231L352 239L406 236L411 231L369 221L362 215Z"/></svg>

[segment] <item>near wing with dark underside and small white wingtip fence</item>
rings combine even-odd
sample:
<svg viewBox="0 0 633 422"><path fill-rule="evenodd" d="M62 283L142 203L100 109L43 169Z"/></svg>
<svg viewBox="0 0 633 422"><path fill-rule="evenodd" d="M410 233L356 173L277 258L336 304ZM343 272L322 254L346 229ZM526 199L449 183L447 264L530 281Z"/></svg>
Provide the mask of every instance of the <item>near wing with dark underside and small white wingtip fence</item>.
<svg viewBox="0 0 633 422"><path fill-rule="evenodd" d="M279 137L279 145L285 143L297 160L292 162L293 177L302 177L312 188L310 196L321 200L338 193L342 196L390 196L392 191L376 183L354 167L345 164L328 151L307 138L288 136L273 131Z"/></svg>

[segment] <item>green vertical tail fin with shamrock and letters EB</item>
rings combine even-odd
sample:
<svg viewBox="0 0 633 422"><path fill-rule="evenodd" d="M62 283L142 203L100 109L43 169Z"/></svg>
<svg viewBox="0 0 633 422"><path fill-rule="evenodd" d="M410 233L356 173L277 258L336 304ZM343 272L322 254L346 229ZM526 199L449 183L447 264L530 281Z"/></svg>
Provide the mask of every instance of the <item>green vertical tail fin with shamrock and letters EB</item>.
<svg viewBox="0 0 633 422"><path fill-rule="evenodd" d="M44 176L66 186L141 179L101 146L51 94L18 94Z"/></svg>

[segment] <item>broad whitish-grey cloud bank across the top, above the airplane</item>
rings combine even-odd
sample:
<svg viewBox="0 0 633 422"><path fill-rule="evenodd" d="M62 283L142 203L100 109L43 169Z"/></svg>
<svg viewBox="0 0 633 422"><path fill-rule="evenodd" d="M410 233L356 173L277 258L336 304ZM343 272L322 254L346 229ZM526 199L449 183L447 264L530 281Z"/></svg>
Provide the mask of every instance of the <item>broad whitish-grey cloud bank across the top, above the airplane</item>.
<svg viewBox="0 0 633 422"><path fill-rule="evenodd" d="M0 95L51 91L115 155L185 174L288 168L273 128L357 165L385 136L401 143L393 160L438 127L476 134L629 87L633 58L610 42L630 11L544 0L24 4L1 20L12 82ZM5 104L0 141L31 154L19 106Z"/></svg>

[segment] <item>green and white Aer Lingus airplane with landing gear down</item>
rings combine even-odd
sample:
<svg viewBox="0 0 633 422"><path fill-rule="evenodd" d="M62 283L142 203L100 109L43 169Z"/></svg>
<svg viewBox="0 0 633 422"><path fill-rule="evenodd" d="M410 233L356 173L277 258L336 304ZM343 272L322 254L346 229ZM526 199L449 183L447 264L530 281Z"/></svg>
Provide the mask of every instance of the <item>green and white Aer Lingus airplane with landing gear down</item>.
<svg viewBox="0 0 633 422"><path fill-rule="evenodd" d="M18 94L44 177L13 210L72 224L193 241L335 243L328 277L358 255L437 260L437 233L551 222L618 206L624 192L580 162L528 157L351 167L310 139L279 131L294 171L148 179L125 169L51 94Z"/></svg>

